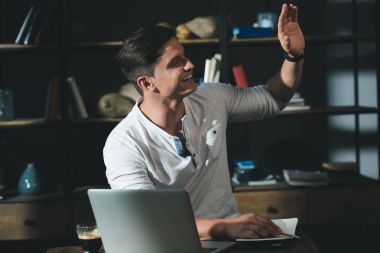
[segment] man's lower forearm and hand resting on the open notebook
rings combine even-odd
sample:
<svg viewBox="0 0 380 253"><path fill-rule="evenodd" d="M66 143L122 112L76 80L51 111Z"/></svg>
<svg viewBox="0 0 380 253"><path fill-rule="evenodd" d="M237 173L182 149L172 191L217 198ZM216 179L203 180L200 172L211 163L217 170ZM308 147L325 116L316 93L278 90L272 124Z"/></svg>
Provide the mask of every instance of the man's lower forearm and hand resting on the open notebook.
<svg viewBox="0 0 380 253"><path fill-rule="evenodd" d="M249 213L226 219L196 219L201 240L277 236L281 229L270 219Z"/></svg>

